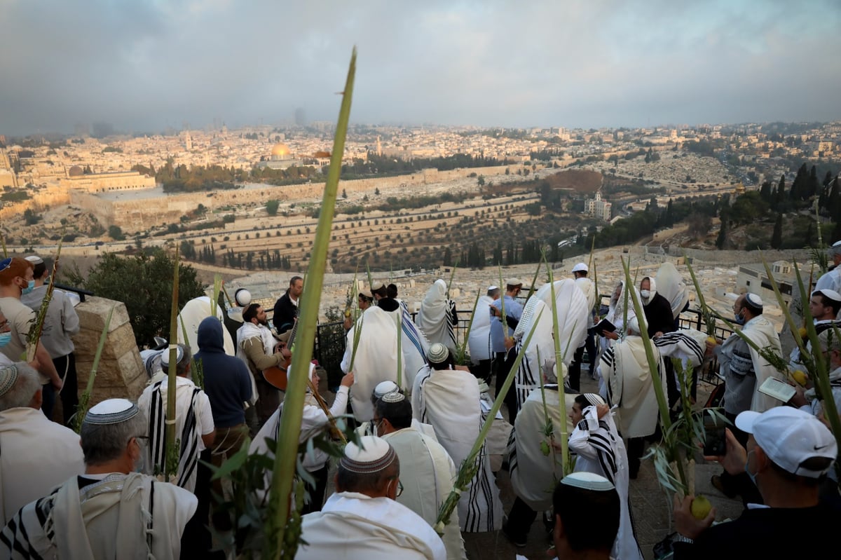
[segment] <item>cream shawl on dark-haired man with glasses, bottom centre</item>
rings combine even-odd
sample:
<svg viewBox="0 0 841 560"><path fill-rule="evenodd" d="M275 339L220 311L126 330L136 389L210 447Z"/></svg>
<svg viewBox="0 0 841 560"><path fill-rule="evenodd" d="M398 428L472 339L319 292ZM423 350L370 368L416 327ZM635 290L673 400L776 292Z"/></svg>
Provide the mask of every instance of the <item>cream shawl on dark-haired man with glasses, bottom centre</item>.
<svg viewBox="0 0 841 560"><path fill-rule="evenodd" d="M382 437L394 447L400 461L403 494L397 497L397 502L434 527L438 510L450 495L456 478L456 466L447 450L415 428L393 431ZM464 541L458 528L458 510L452 512L450 522L444 526L442 540L447 549L447 560L466 560Z"/></svg>

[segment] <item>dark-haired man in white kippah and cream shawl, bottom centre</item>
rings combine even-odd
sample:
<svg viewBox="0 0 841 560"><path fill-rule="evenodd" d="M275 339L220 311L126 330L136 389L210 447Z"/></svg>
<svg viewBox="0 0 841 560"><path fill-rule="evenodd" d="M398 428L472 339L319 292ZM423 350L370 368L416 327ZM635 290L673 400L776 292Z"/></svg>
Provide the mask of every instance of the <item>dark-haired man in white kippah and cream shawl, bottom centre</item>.
<svg viewBox="0 0 841 560"><path fill-rule="evenodd" d="M456 466L437 441L416 430L412 405L404 394L394 392L377 401L374 423L377 433L388 441L400 459L400 504L414 511L434 527L438 510L452 491ZM447 560L466 560L464 541L458 529L458 511L453 511L442 536Z"/></svg>

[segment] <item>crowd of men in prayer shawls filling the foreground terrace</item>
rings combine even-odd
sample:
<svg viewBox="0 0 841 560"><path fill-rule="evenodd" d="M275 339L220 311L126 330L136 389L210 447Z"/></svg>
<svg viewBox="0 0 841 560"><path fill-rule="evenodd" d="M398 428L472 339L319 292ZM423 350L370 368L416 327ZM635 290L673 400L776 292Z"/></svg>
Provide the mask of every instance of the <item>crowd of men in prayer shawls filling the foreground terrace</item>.
<svg viewBox="0 0 841 560"><path fill-rule="evenodd" d="M528 298L523 283L509 278L477 298L463 342L446 282L431 285L413 317L394 284L373 281L357 294L357 316L346 317L344 375L330 404L321 398L328 393L323 369L309 366L299 436L309 473L305 544L296 557L463 559L463 533L502 531L525 547L539 517L558 558L642 558L629 488L648 442L661 436L656 395L665 394L677 414L681 391L692 385L695 396L684 376L711 362L724 379L721 404L731 424L726 452L707 457L722 465L711 483L740 495L746 509L713 526L714 509L699 520L690 511L693 497L675 496L674 557L795 552L799 545L785 535L804 523L815 546L828 545L829 528L841 520L832 469L838 447L826 409L826 399L841 407L841 241L829 256L836 267L808 294L821 347L806 344L808 356L796 349L785 360L793 372L809 369L815 352L825 357L832 394L807 376L785 401L765 388L768 380L796 383L770 359L769 352L783 359L780 337L759 295L738 296L739 329L725 340L680 328L690 295L669 263L637 285L617 283L604 309L584 262L573 277L532 289ZM303 279L290 279L271 324L243 289L230 306L215 308L209 298L185 306L190 332L145 351L150 382L137 402L96 404L77 434L62 425L78 404L71 297L56 290L40 341L29 335L49 272L40 256L0 262L0 557L225 557L213 534L235 534L236 520L218 507L230 488L212 479L208 465L225 462L249 437L250 453L272 454ZM584 364L597 393L581 393ZM170 371L174 419L167 415ZM489 415L493 395L504 391L507 418ZM51 421L56 399L63 414ZM357 425L358 437L332 464L323 449L305 444L341 415ZM177 473L165 478L173 424ZM488 424L469 465L472 478L458 489L447 522L439 522L458 469ZM567 446L570 464L562 459ZM515 494L507 515L500 469ZM327 496L331 480L335 491Z"/></svg>

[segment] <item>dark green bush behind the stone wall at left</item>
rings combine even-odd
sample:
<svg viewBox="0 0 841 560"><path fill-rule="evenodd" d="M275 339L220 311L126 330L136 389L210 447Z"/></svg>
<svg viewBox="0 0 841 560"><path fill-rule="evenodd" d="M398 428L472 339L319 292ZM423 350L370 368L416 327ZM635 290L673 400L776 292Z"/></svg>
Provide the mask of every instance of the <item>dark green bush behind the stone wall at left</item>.
<svg viewBox="0 0 841 560"><path fill-rule="evenodd" d="M69 282L91 290L102 298L125 303L135 339L142 347L156 335L168 335L172 293L172 258L162 249L139 251L123 257L104 253L95 267L82 278L76 271L68 273ZM183 265L178 273L178 307L204 294L193 267Z"/></svg>

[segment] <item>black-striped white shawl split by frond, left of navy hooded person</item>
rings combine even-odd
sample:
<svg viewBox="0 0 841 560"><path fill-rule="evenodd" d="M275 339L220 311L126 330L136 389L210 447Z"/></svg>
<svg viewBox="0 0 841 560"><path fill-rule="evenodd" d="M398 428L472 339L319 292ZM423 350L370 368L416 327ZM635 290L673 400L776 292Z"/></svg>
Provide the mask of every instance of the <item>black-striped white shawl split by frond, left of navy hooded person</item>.
<svg viewBox="0 0 841 560"><path fill-rule="evenodd" d="M163 379L155 383L152 388L151 406L149 410L149 458L152 473L165 472L167 464L167 409L163 404L161 395L161 384L167 381ZM195 478L198 464L198 441L201 434L198 433L196 425L196 396L200 388L193 388L193 395L190 398L190 405L185 411L184 427L181 431L180 451L178 454L177 486L188 489L191 492L195 487Z"/></svg>

